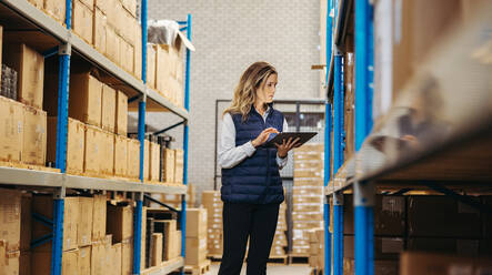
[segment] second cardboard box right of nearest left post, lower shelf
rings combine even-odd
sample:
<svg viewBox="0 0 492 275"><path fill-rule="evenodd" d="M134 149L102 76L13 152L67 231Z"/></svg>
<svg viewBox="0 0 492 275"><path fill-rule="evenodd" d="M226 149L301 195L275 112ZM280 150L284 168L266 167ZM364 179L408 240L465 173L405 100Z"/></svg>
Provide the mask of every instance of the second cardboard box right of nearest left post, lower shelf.
<svg viewBox="0 0 492 275"><path fill-rule="evenodd" d="M94 200L79 197L79 221L77 226L78 245L87 246L92 243L92 216Z"/></svg>

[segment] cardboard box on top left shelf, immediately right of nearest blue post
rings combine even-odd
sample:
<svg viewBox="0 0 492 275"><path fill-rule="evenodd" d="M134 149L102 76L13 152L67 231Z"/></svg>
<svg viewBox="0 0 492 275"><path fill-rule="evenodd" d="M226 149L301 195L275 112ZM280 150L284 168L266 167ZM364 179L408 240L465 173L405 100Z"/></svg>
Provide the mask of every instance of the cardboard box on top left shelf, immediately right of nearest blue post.
<svg viewBox="0 0 492 275"><path fill-rule="evenodd" d="M74 0L72 4L72 30L87 43L92 44L93 9L80 0Z"/></svg>

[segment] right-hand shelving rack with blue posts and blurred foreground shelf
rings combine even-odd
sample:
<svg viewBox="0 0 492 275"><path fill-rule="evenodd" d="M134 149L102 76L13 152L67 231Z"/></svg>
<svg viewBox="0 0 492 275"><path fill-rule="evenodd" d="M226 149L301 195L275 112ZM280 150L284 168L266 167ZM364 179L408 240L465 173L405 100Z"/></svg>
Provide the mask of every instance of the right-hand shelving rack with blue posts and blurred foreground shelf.
<svg viewBox="0 0 492 275"><path fill-rule="evenodd" d="M486 82L490 80L492 68L490 64L481 64L478 59L473 60L473 57L470 58L471 49L480 48L484 38L490 39L490 32L488 37L484 34L486 31L484 32L482 28L491 26L491 19L486 14L488 12L490 14L491 4L488 3L481 12L476 13L473 23L459 29L453 38L446 38L445 43L441 44L440 52L434 53L436 57L419 68L416 77L410 79L410 84L399 95L399 99L409 101L419 91L430 92L429 89L425 90L429 85L431 89L433 84L444 85L446 94L440 106L425 102L419 108L421 111L432 114L438 113L434 110L438 108L441 113L464 110L456 115L446 116L449 132L433 133L433 136L428 140L419 141L414 150L403 151L404 153L383 150L389 156L389 161L382 165L367 169L364 164L372 161L365 150L368 144L373 141L378 131L394 122L391 114L399 111L403 101L396 99L396 103L393 103L389 112L390 118L384 118L385 120L382 120L372 130L374 52L372 2L370 0L329 0L328 10L331 16L327 17L327 40L331 41L327 41L327 59L331 61L328 65L327 83L328 98L331 100L327 103L327 118L331 118L333 113L333 123L327 120L325 129L330 131L330 128L333 126L333 152L330 152L331 143L329 135L327 135L325 155L333 160L333 179L330 179L330 171L327 169L324 183L327 201L332 197L334 213L330 213L325 206L325 274L331 274L331 272L335 275L343 274L343 191L345 190L352 190L354 193L357 275L374 273L373 206L376 190L396 191L393 194L404 194L411 190L431 190L452 196L482 212L492 213L490 207L453 191L460 189L481 193L490 192L492 189L492 171L490 169L492 165L492 93L490 84ZM354 142L357 153L354 156L355 174L349 177L338 174L344 170L341 169L342 156L339 155L344 146L343 112L340 113L338 110L343 106L343 71L339 61L340 49L344 47L348 20L352 13L354 13L355 47ZM456 67L456 62L461 62L460 64L463 67ZM434 82L429 81L429 75L434 77ZM469 85L466 95L462 95L463 91L459 91L459 88L445 85L451 80L460 80L454 84L473 81L473 85ZM330 106L330 103L333 104L333 108ZM330 167L330 157L325 157L325 167ZM328 230L330 214L333 214L333 235ZM333 257L330 254L331 237L333 238Z"/></svg>

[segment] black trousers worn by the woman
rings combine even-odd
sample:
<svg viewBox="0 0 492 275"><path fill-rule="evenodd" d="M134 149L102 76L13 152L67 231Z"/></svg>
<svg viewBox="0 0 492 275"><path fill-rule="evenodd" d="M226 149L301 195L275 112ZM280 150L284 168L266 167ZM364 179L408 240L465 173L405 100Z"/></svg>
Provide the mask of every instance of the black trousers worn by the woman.
<svg viewBox="0 0 492 275"><path fill-rule="evenodd" d="M248 238L248 275L265 275L279 220L279 204L224 203L223 255L219 275L241 273Z"/></svg>

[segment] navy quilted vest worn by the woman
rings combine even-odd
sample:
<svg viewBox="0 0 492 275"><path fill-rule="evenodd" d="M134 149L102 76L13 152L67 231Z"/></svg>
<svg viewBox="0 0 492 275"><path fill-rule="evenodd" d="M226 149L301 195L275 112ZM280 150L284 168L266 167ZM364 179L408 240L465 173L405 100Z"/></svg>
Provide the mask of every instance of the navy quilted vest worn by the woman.
<svg viewBox="0 0 492 275"><path fill-rule="evenodd" d="M283 114L273 108L263 121L254 108L247 121L242 114L232 114L235 126L235 146L254 140L264 129L283 130ZM270 134L273 139L274 134ZM274 204L283 202L282 179L277 164L277 147L257 147L250 157L232 169L222 169L221 197L230 203Z"/></svg>

